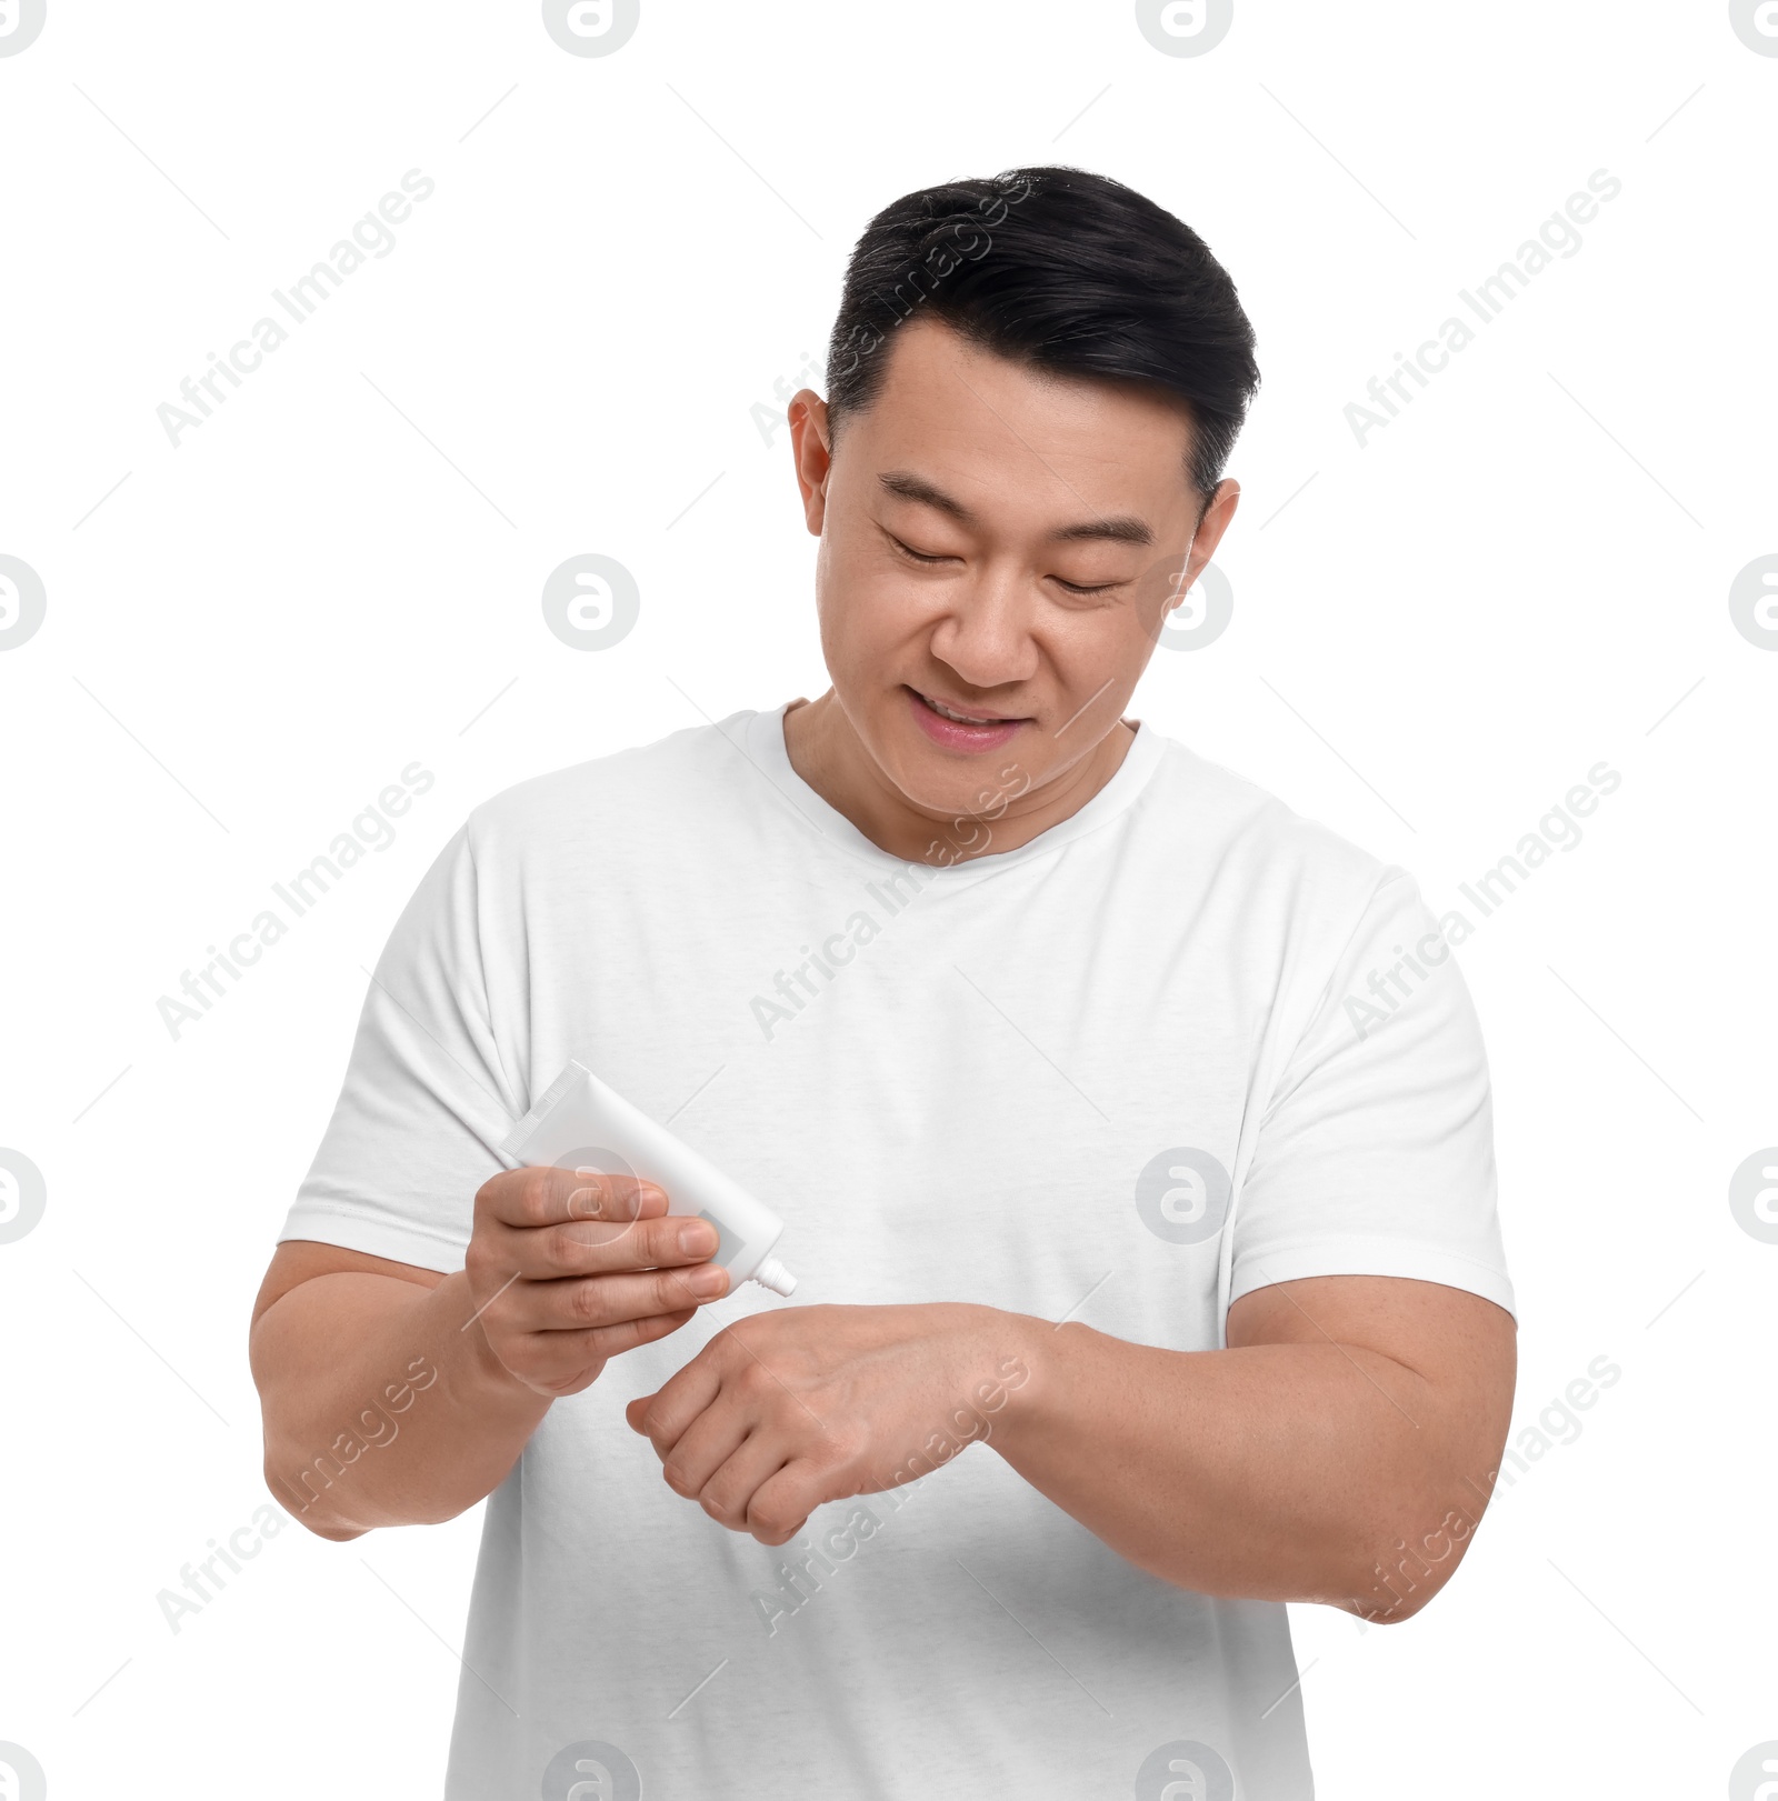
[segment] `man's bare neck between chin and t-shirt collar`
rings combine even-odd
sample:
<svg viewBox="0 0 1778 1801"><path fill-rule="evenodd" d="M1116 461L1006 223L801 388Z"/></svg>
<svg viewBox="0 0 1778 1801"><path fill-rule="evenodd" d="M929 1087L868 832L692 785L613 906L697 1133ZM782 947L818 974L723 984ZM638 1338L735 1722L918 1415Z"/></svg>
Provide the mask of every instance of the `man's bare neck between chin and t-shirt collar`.
<svg viewBox="0 0 1778 1801"><path fill-rule="evenodd" d="M953 814L917 807L890 782L832 688L818 701L793 701L784 713L784 749L796 774L879 850L908 863L966 863L1029 845L1079 812L1117 774L1133 742L1135 728L1120 719L1077 764L1007 800L998 814L998 803L982 814Z"/></svg>

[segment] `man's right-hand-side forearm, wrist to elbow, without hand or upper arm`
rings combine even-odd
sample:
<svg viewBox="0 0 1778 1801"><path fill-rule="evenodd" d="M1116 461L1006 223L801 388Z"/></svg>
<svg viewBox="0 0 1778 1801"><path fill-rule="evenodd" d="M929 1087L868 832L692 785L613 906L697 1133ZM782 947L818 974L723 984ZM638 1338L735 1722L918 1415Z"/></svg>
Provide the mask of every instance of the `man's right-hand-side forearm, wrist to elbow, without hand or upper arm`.
<svg viewBox="0 0 1778 1801"><path fill-rule="evenodd" d="M1486 1500L1425 1378L1340 1344L1162 1351L1025 1320L989 1443L1131 1563L1203 1594L1405 1619Z"/></svg>

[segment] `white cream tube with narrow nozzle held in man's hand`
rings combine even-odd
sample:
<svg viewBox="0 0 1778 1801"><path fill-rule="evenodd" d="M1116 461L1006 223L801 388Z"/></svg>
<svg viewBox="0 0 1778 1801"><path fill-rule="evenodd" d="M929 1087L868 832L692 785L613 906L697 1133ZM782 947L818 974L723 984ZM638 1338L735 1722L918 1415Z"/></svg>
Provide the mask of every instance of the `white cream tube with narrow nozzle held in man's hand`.
<svg viewBox="0 0 1778 1801"><path fill-rule="evenodd" d="M712 1263L728 1270L730 1291L746 1281L789 1295L796 1277L771 1255L784 1221L731 1181L708 1158L656 1126L585 1064L569 1063L537 1106L501 1142L521 1163L596 1169L605 1176L638 1176L667 1190L676 1214L695 1208L717 1228Z"/></svg>

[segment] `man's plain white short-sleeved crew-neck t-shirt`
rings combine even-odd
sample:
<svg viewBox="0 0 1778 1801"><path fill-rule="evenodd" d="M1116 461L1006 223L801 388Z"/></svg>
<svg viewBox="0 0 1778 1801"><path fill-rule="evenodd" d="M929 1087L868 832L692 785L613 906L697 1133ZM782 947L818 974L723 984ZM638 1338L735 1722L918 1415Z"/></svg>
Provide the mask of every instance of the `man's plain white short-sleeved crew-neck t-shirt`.
<svg viewBox="0 0 1778 1801"><path fill-rule="evenodd" d="M1175 1351L1292 1277L1511 1309L1481 1036L1403 872L1146 724L1072 818L955 866L829 807L784 708L539 776L396 924L281 1235L461 1268L569 1057L778 1212L800 1286L549 1408L488 1500L449 1801L1311 1794L1283 1605L1144 1574L982 1444L769 1549L623 1407L803 1302Z"/></svg>

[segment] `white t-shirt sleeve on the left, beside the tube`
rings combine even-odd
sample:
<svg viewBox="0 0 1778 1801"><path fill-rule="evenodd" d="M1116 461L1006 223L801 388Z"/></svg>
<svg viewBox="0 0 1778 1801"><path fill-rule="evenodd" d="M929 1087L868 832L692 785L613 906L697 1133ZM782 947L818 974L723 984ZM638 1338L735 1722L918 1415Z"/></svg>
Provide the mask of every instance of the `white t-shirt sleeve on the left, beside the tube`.
<svg viewBox="0 0 1778 1801"><path fill-rule="evenodd" d="M333 1117L279 1232L427 1270L463 1266L476 1190L513 1160L515 1106L488 1014L488 900L467 821L371 978Z"/></svg>

